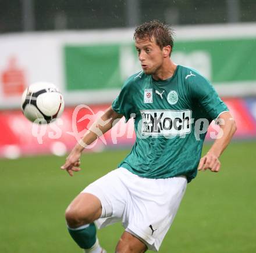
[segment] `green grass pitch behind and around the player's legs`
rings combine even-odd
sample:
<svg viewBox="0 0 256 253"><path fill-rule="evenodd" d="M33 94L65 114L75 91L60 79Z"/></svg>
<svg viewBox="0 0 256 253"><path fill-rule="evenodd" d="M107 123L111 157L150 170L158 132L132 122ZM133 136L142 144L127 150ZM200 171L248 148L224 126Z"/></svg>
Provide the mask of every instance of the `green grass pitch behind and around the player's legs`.
<svg viewBox="0 0 256 253"><path fill-rule="evenodd" d="M198 173L159 252L256 252L255 150L256 142L232 143L221 157L221 172ZM59 169L64 157L0 160L0 252L81 252L67 233L65 208L127 153L84 154L83 171L73 178ZM109 253L122 232L120 224L98 231Z"/></svg>

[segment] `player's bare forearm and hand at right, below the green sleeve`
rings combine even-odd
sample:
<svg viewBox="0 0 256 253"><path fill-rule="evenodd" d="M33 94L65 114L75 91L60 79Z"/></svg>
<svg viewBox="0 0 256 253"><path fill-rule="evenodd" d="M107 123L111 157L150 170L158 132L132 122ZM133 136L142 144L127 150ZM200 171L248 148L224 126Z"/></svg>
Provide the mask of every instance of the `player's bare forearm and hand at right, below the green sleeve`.
<svg viewBox="0 0 256 253"><path fill-rule="evenodd" d="M205 171L206 169L210 169L213 172L218 172L221 168L221 162L219 161L219 157L226 149L234 132L236 132L236 122L234 118L229 113L229 111L225 111L221 115L219 115L218 119L216 119L216 123L221 128L221 138L216 139L214 144L212 144L211 149L209 149L208 153L201 158L198 170Z"/></svg>

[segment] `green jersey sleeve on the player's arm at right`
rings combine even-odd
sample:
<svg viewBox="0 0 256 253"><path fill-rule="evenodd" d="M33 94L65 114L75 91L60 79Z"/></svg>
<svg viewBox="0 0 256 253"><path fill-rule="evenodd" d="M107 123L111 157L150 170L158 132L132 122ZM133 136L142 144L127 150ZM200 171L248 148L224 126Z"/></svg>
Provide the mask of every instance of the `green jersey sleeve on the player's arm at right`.
<svg viewBox="0 0 256 253"><path fill-rule="evenodd" d="M214 86L201 75L195 78L190 78L190 88L192 97L196 104L205 110L210 120L215 120L224 111L229 111L226 104L218 96Z"/></svg>

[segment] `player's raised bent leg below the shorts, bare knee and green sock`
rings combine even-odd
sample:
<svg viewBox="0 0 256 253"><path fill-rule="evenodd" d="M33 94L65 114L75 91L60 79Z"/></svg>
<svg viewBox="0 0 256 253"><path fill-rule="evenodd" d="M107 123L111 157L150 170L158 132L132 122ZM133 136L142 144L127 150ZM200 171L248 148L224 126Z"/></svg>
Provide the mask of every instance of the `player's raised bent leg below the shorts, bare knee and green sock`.
<svg viewBox="0 0 256 253"><path fill-rule="evenodd" d="M80 193L67 207L65 215L73 240L85 249L85 252L102 252L93 223L101 216L101 201L93 194Z"/></svg>

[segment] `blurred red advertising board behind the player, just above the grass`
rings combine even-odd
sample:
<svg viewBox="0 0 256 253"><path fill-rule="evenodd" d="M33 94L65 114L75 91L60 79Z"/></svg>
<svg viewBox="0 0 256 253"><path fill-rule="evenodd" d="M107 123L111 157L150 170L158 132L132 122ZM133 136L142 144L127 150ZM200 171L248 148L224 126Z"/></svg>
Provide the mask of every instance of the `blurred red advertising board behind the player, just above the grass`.
<svg viewBox="0 0 256 253"><path fill-rule="evenodd" d="M224 99L233 114L237 132L235 138L256 138L256 99ZM62 117L49 125L32 124L20 110L0 111L0 157L53 153L63 155L72 149L92 122L109 104L66 108ZM216 136L218 127L210 126L207 139ZM109 132L87 147L99 151L106 147L131 146L135 140L133 120L122 118Z"/></svg>

